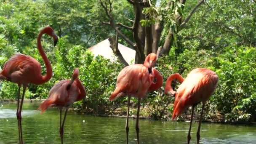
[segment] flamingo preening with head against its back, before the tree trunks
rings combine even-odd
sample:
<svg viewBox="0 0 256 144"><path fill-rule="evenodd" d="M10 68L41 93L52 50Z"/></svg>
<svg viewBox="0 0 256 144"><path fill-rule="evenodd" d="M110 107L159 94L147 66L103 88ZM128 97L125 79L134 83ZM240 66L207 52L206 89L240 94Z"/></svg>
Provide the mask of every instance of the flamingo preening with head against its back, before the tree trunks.
<svg viewBox="0 0 256 144"><path fill-rule="evenodd" d="M117 84L115 91L109 97L109 100L112 101L116 97L128 95L128 110L125 124L127 144L129 133L128 117L131 96L138 98L138 110L135 128L137 134L137 142L139 144L139 109L141 104L141 98L143 98L148 91L155 91L158 88L160 88L163 84L162 75L156 69L153 68L156 59L156 54L150 53L146 57L144 64L133 64L123 68L117 76ZM156 78L156 82L154 82L154 78Z"/></svg>

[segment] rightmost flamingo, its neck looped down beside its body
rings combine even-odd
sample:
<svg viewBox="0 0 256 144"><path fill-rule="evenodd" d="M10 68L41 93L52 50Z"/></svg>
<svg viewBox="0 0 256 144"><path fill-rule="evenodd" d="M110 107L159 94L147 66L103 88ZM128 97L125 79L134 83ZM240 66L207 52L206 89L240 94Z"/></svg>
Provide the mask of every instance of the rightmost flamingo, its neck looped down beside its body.
<svg viewBox="0 0 256 144"><path fill-rule="evenodd" d="M173 79L178 79L181 83L177 91L173 91L171 88L171 82ZM165 93L175 94L175 101L173 107L173 120L176 119L185 109L192 106L192 114L190 118L189 133L187 136L187 143L191 140L190 131L192 125L192 119L194 114L194 108L200 102L203 103L202 111L200 115L199 125L197 129L197 144L200 140L200 127L203 117L203 110L206 101L210 98L216 89L218 83L218 75L210 69L197 68L193 69L184 79L178 73L172 74L166 80Z"/></svg>

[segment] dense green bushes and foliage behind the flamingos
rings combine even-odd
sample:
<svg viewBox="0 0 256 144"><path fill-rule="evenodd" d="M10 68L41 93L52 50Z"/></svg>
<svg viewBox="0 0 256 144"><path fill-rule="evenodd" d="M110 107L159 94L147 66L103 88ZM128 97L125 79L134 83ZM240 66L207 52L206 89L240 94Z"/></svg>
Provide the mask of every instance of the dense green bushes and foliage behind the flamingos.
<svg viewBox="0 0 256 144"><path fill-rule="evenodd" d="M161 3L167 1L160 0ZM94 58L86 51L88 47L115 35L111 27L101 23L108 21L108 18L98 1L0 2L1 68L13 53L20 52L40 61L45 72L36 48L37 34L40 29L50 25L60 37L55 48L49 37L43 38L43 48L51 61L54 75L48 83L29 85L27 98L46 98L54 83L69 78L73 69L78 67L88 95L87 99L74 107L85 112L104 113L105 109L125 105L125 97L108 101L115 88L118 72L124 65L101 56ZM188 16L195 5L193 0L187 0L182 14ZM114 0L112 13L116 21L123 21L126 25L129 25L128 18L134 18L133 7L126 0ZM163 16L168 14L164 11ZM160 44L165 42L168 27L170 24L163 28ZM132 39L130 31L121 31ZM128 45L123 39L119 39L119 42ZM205 118L232 122L256 121L256 3L253 0L207 0L197 8L186 26L175 34L174 43L168 56L158 59L157 69L164 80L176 72L186 77L196 67L212 69L219 76L219 85L207 104ZM169 69L170 66L172 69ZM18 88L15 84L3 82L0 85L1 99L16 98ZM145 112L155 118L170 117L172 103L173 98L165 96L161 90L149 93L148 98L142 101L143 106L148 108Z"/></svg>

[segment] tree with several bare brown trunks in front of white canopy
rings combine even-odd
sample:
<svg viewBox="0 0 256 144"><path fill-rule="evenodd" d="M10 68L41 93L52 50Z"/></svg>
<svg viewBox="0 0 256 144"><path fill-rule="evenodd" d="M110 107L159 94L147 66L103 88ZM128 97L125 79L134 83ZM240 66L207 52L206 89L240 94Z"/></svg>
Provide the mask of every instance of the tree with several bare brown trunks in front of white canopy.
<svg viewBox="0 0 256 144"><path fill-rule="evenodd" d="M115 32L134 48L135 64L141 64L149 53L157 53L157 56L168 55L171 47L176 45L176 34L185 27L204 0L200 0L185 19L183 19L183 10L186 0L127 0L127 2L134 10L133 20L129 19L133 23L132 26L115 22L112 14L113 1L99 0L109 20L103 23L115 29ZM124 35L120 28L130 30L133 33L133 40ZM114 53L121 62L128 65L117 48L117 42L118 36L116 40L110 38Z"/></svg>

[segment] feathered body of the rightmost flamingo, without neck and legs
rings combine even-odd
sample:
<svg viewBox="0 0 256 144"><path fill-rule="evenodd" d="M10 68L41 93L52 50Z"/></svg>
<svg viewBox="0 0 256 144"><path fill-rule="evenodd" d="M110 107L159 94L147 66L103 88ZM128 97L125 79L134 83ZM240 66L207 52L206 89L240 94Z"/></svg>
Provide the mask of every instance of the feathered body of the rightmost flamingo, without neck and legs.
<svg viewBox="0 0 256 144"><path fill-rule="evenodd" d="M216 89L218 76L210 69L193 69L176 91L173 119L188 107L205 103Z"/></svg>

